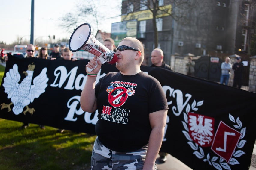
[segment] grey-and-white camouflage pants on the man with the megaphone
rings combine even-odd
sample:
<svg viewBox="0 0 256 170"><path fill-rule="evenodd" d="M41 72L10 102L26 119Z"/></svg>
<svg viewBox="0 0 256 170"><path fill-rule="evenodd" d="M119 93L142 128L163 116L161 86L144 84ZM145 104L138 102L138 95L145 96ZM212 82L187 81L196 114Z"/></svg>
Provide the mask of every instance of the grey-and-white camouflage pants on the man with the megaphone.
<svg viewBox="0 0 256 170"><path fill-rule="evenodd" d="M106 148L96 138L93 145L90 170L142 170L147 150L148 145L133 152L115 152ZM155 170L157 170L156 165Z"/></svg>

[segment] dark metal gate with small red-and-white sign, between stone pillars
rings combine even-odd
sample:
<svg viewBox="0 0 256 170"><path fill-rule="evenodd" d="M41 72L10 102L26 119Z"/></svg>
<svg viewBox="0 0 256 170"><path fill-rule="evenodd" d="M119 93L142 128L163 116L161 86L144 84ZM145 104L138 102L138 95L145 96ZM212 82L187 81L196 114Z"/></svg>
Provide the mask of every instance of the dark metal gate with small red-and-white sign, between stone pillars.
<svg viewBox="0 0 256 170"><path fill-rule="evenodd" d="M195 61L194 76L209 81L219 82L221 78L221 63L224 60L217 57L203 56Z"/></svg>

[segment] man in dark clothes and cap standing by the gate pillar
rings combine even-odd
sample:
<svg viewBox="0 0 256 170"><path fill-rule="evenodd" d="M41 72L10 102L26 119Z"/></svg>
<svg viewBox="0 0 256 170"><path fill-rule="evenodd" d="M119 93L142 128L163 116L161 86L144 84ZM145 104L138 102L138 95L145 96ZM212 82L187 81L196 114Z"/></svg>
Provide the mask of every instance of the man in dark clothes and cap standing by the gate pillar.
<svg viewBox="0 0 256 170"><path fill-rule="evenodd" d="M241 89L242 86L242 72L244 70L244 65L241 62L241 58L237 57L236 58L236 63L234 63L232 69L234 70L234 82L233 82L233 87L237 87Z"/></svg>

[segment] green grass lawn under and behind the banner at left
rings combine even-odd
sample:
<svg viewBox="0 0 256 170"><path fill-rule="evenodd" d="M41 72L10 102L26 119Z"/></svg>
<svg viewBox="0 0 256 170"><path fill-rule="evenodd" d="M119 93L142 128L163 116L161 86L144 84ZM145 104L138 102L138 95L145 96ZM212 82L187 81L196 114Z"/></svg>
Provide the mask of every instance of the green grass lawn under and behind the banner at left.
<svg viewBox="0 0 256 170"><path fill-rule="evenodd" d="M0 83L4 75L0 65ZM1 112L1 110L0 110ZM19 130L21 122L0 119L0 170L80 170L90 168L96 136L30 124Z"/></svg>

